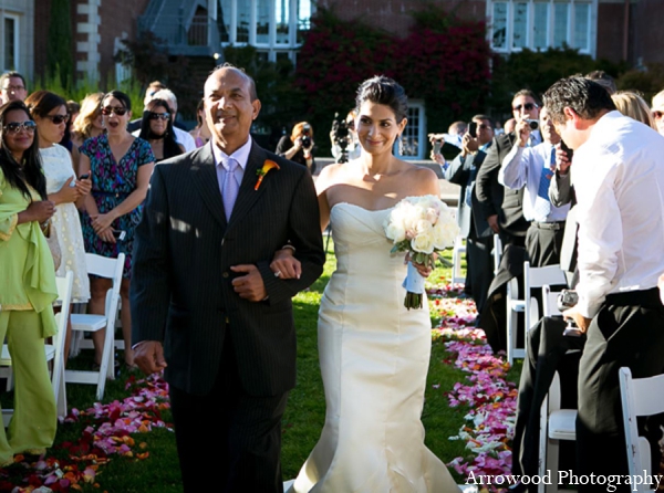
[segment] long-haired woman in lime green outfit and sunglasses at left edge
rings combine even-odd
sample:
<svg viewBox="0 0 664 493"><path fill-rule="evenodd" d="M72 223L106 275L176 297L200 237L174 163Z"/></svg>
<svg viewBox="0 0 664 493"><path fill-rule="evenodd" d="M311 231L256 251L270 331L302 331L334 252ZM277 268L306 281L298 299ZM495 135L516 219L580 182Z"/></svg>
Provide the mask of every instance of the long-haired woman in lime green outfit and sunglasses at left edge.
<svg viewBox="0 0 664 493"><path fill-rule="evenodd" d="M55 334L55 269L42 233L53 216L46 196L37 125L21 101L0 107L0 340L7 337L14 374L14 413L0 427L0 466L15 453L41 454L53 444L55 398L44 338Z"/></svg>

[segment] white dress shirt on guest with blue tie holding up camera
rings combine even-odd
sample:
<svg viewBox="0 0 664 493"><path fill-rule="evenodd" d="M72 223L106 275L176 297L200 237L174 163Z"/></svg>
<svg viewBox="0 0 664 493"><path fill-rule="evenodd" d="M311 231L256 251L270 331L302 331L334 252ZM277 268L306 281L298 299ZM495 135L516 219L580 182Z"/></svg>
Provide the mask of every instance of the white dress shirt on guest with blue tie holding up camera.
<svg viewBox="0 0 664 493"><path fill-rule="evenodd" d="M569 203L562 207L551 204L549 214L540 217L535 207L542 171L551 160L552 148L553 145L549 143L541 143L535 147L521 147L515 144L509 154L502 159L502 165L498 171L498 182L507 188L519 190L526 187L523 192L523 217L528 221L564 221L570 210Z"/></svg>

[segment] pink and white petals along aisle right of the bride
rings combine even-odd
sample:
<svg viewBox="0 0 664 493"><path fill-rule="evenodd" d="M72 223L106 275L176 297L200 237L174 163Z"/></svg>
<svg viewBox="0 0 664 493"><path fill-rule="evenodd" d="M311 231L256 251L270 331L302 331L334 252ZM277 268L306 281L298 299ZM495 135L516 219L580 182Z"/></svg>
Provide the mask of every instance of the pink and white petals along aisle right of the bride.
<svg viewBox="0 0 664 493"><path fill-rule="evenodd" d="M509 365L492 355L484 331L471 325L477 312L471 300L458 297L458 285L430 290L432 311L440 313L434 338L443 337L447 350L456 355L454 366L467 371L467 382L457 382L448 394L449 405L467 406L466 423L450 440L464 440L469 455L458 457L448 465L459 474L509 474L517 388L505 379Z"/></svg>

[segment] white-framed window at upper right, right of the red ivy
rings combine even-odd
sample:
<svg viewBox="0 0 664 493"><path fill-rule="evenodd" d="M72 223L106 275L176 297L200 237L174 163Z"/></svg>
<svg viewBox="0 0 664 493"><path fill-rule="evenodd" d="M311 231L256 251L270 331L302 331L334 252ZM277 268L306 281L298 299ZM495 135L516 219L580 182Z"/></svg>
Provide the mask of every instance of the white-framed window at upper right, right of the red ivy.
<svg viewBox="0 0 664 493"><path fill-rule="evenodd" d="M579 49L594 55L598 0L487 0L489 41L497 52Z"/></svg>

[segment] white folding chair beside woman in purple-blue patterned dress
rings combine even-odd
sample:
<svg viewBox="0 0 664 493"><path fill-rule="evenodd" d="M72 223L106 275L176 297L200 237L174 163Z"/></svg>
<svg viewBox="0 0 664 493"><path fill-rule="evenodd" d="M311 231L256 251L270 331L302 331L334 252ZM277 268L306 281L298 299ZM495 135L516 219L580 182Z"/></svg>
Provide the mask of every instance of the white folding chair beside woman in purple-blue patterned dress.
<svg viewBox="0 0 664 493"><path fill-rule="evenodd" d="M115 339L115 317L117 316L117 304L120 302L120 285L122 283L122 271L124 268L124 253L117 259L96 255L94 253L85 254L87 273L113 280L113 285L106 292L106 303L104 315L95 314L73 314L72 329L74 332L97 332L106 329L104 337L104 349L98 371L66 370L65 379L69 384L92 384L96 385L96 398L104 397L106 378L114 379L114 339ZM81 335L77 335L79 342L75 344L84 347L81 343Z"/></svg>

